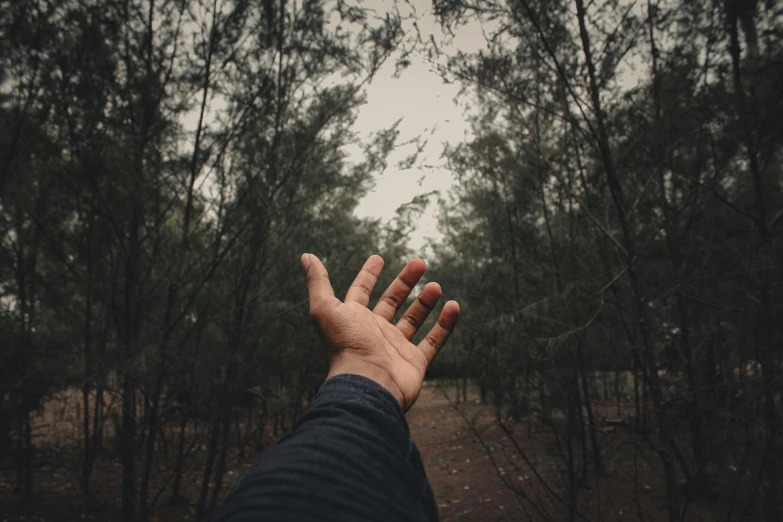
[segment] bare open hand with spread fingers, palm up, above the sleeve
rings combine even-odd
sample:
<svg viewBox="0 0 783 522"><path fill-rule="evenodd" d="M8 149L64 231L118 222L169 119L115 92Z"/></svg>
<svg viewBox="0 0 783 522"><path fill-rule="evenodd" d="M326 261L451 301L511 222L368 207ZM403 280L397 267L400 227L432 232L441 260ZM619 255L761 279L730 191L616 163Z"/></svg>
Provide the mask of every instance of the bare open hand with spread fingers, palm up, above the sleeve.
<svg viewBox="0 0 783 522"><path fill-rule="evenodd" d="M329 274L313 254L302 255L307 271L310 317L329 356L329 375L362 375L387 390L407 411L421 392L424 374L454 330L459 305L443 305L438 322L418 345L411 338L440 299L438 283L427 283L403 316L392 324L397 310L426 269L424 261L413 259L381 295L370 311L370 294L383 270L383 259L374 255L364 263L345 301L334 295Z"/></svg>

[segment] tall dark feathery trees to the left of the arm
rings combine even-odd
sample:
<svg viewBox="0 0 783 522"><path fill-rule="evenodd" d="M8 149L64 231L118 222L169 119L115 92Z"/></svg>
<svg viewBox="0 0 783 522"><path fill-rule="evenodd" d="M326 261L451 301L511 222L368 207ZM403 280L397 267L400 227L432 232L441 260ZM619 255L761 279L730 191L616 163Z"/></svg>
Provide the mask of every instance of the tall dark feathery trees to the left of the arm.
<svg viewBox="0 0 783 522"><path fill-rule="evenodd" d="M404 224L353 215L396 127L345 152L399 17L314 0L0 13L0 440L18 493L35 499L37 412L71 390L86 511L108 452L122 520L187 488L205 520L231 459L322 382L299 255L339 285L367 252L406 250Z"/></svg>

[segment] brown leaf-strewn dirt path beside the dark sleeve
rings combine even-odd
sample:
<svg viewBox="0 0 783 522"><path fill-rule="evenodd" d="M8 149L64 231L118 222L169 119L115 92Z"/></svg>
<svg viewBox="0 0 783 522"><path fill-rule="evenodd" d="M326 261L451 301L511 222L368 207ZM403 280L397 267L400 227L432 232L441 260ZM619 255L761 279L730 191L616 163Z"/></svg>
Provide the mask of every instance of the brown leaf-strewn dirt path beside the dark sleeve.
<svg viewBox="0 0 783 522"><path fill-rule="evenodd" d="M453 389L451 392L453 394ZM477 405L475 398L468 403L467 409L471 414L479 414L479 429L494 425L488 409ZM441 389L425 387L407 418L435 492L441 520L526 519L516 496L503 484L481 442ZM507 472L513 475L513 472L502 448L490 447L499 469L504 470L501 471L504 478L515 480L517 477L505 475ZM498 451L494 451L496 449ZM504 463L508 468L503 468Z"/></svg>

